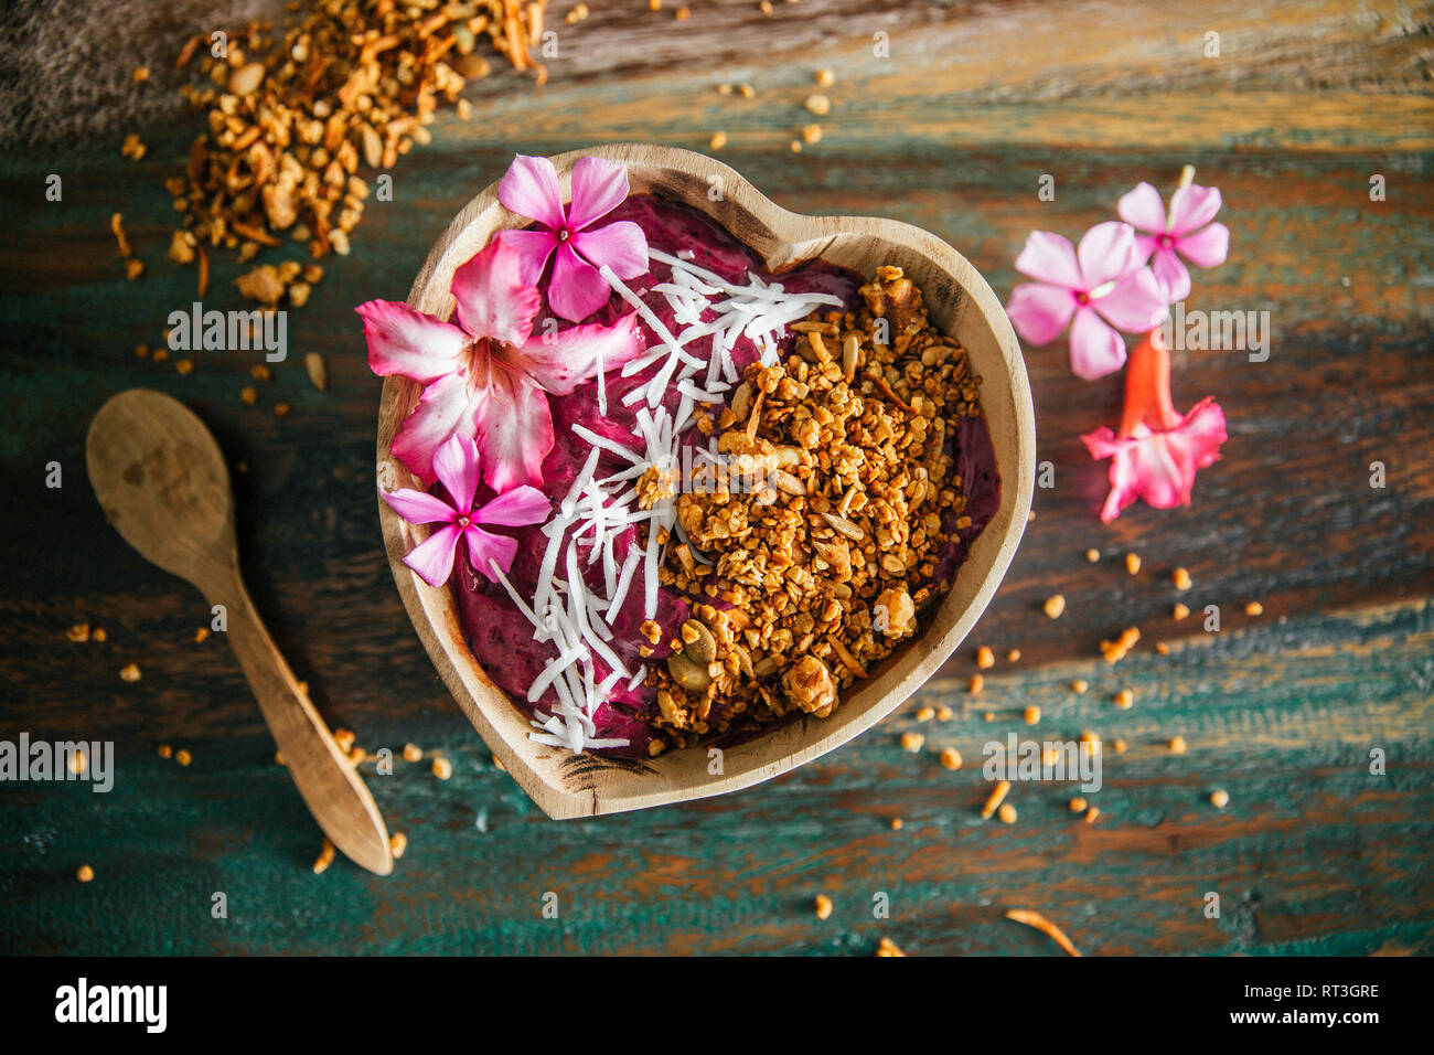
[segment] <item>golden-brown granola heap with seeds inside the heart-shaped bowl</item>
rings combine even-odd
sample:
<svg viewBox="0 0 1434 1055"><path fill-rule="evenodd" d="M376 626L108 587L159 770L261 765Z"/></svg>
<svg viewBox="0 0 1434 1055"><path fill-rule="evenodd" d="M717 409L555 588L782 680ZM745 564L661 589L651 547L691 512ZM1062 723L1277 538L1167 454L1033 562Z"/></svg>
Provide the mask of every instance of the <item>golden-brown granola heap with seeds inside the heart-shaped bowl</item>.
<svg viewBox="0 0 1434 1055"><path fill-rule="evenodd" d="M942 545L971 525L952 441L981 413L965 352L880 267L858 311L817 311L784 363L747 367L716 422L724 466L677 498L664 586L693 604L657 686L652 754L830 715L916 632ZM650 494L660 494L651 481Z"/></svg>

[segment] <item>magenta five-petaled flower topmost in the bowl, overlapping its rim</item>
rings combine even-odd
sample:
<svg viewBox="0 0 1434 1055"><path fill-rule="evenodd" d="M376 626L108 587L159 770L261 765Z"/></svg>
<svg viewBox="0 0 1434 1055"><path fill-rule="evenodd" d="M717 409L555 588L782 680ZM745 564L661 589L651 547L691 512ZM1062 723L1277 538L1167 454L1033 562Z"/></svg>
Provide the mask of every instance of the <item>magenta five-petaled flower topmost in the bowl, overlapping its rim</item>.
<svg viewBox="0 0 1434 1055"><path fill-rule="evenodd" d="M562 207L558 171L548 158L519 154L498 185L498 200L518 215L536 220L536 231L512 231L523 261L523 281L536 286L548 258L548 304L578 322L602 307L612 289L599 274L607 264L618 278L647 273L647 237L630 220L605 227L592 224L628 195L627 168L602 158L578 158L572 167L572 204Z"/></svg>

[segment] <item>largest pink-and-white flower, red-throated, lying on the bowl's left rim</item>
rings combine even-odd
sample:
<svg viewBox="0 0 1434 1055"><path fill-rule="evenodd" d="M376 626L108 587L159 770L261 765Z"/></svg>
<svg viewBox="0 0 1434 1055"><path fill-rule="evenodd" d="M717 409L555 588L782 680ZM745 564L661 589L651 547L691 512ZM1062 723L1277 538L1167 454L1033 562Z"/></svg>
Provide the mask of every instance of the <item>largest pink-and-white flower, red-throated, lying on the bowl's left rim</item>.
<svg viewBox="0 0 1434 1055"><path fill-rule="evenodd" d="M611 327L572 326L535 339L541 297L519 274L511 234L453 273L457 326L391 300L357 309L370 369L426 386L393 441L394 456L424 484L435 479L433 452L453 435L478 439L495 491L541 484L552 449L548 393L565 396L644 349L631 314Z"/></svg>

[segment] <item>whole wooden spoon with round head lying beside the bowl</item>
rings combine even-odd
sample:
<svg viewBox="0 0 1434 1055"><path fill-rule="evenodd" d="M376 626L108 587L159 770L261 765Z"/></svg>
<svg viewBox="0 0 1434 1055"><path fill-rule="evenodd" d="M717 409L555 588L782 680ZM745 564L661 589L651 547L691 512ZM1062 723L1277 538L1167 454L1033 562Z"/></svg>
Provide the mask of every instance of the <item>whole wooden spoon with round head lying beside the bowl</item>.
<svg viewBox="0 0 1434 1055"><path fill-rule="evenodd" d="M125 541L225 607L229 643L318 827L353 861L387 876L393 854L373 795L298 688L239 578L229 471L214 436L178 400L130 389L95 415L86 459L105 518Z"/></svg>

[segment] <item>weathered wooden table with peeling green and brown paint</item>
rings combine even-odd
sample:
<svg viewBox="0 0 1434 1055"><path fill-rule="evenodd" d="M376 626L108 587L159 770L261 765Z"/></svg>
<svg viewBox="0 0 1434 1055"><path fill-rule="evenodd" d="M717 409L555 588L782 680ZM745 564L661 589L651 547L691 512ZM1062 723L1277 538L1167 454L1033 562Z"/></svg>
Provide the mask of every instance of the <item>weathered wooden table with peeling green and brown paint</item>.
<svg viewBox="0 0 1434 1055"><path fill-rule="evenodd" d="M545 88L495 75L475 86L469 123L445 116L433 145L402 161L394 200L369 210L354 253L327 260L291 314L290 362L257 408L239 400L252 356L198 353L179 376L133 353L194 289L192 271L163 260L162 181L195 132L165 90L168 56L228 14L159 26L136 6L103 53L72 26L49 73L24 49L62 29L42 19L17 37L6 63L33 98L9 106L0 159L0 738L112 739L118 774L108 795L0 787L0 950L869 953L889 936L911 953L1050 953L1001 916L1030 907L1087 955L1434 952L1428 7L802 0L766 17L754 3L693 0L675 22L671 4L589 6L569 27L569 4L555 3ZM72 7L66 17L96 17ZM1219 57L1206 56L1209 33ZM883 39L888 57L873 47ZM136 92L126 78L141 60L156 75ZM826 136L793 155L823 66L837 78ZM721 96L718 82L750 82L756 98ZM138 165L119 156L129 131L149 144ZM782 779L558 824L493 766L399 603L374 508L379 380L351 309L406 296L449 217L513 152L619 139L704 149L714 131L728 135L721 158L780 204L926 227L1002 297L1028 230L1074 237L1137 181L1169 188L1192 162L1225 194L1232 250L1196 274L1189 307L1269 311L1271 355L1176 353L1177 405L1213 393L1229 415L1225 456L1200 474L1192 508L1136 507L1107 528L1104 465L1078 435L1116 423L1120 382L1076 380L1060 344L1030 349L1054 487L1037 492L1005 584L946 676ZM49 174L63 178L62 202L44 200ZM1038 198L1044 174L1054 201ZM151 264L136 283L115 257L116 210ZM214 306L238 306L235 273L217 263ZM327 393L304 378L311 350L327 357ZM199 596L100 517L85 429L135 385L189 403L238 468L252 591L330 723L370 751L412 741L453 761L447 782L427 764L370 777L409 837L391 877L341 860L311 871L320 834L232 655L219 636L194 640ZM293 413L275 418L278 402ZM46 487L50 462L60 488ZM1384 487L1371 487L1374 462ZM1143 557L1139 576L1127 551ZM1183 596L1176 566L1195 578ZM1053 622L1041 601L1057 591L1068 609ZM1176 600L1196 614L1176 623ZM1252 600L1262 616L1245 614ZM1207 604L1220 607L1217 633L1202 629ZM79 622L108 640L70 643ZM1130 624L1140 647L1107 667L1100 640ZM972 698L978 644L1002 660ZM143 677L126 683L130 662ZM1136 703L1120 711L1111 695L1126 688ZM942 703L954 719L916 721ZM1027 705L1041 708L1035 726ZM979 818L984 742L1084 729L1107 742L1097 822L1048 784L1015 788L1015 824ZM898 745L906 731L926 736L916 755ZM1186 754L1166 746L1174 735ZM1124 754L1108 749L1116 738ZM161 759L162 742L194 762ZM967 758L958 772L936 762L948 745ZM1225 810L1207 801L1216 788ZM80 864L95 881L75 880ZM227 919L211 913L217 891ZM556 919L542 916L548 891ZM822 891L836 906L826 922L812 910ZM882 893L889 919L873 917Z"/></svg>

